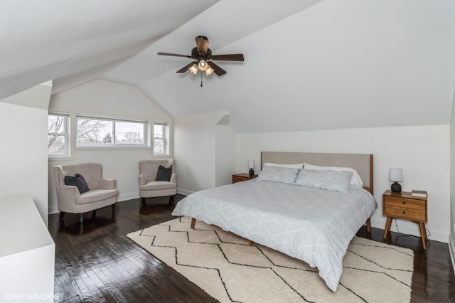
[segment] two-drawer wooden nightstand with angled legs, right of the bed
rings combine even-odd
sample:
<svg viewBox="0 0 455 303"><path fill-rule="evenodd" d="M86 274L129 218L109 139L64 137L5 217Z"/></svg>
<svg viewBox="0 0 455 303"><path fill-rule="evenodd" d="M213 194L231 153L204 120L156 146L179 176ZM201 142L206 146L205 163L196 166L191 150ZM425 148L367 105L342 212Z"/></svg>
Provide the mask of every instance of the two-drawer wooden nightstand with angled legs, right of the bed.
<svg viewBox="0 0 455 303"><path fill-rule="evenodd" d="M425 223L427 223L427 198L414 197L411 193L402 191L394 193L385 191L382 195L382 214L387 216L385 223L384 239L387 238L387 233L390 231L393 218L412 220L419 223L420 238L422 245L427 249L427 231Z"/></svg>

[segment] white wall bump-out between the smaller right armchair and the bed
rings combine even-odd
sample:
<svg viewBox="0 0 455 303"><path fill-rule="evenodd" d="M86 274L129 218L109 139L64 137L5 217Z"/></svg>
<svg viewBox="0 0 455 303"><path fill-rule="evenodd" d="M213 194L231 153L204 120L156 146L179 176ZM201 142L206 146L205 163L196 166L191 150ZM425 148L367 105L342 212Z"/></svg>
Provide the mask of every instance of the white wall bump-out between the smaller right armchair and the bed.
<svg viewBox="0 0 455 303"><path fill-rule="evenodd" d="M179 193L188 194L222 185L220 169L225 166L234 169L235 139L232 130L223 125L226 115L226 112L210 112L174 118ZM218 125L220 122L222 125ZM232 144L231 148L225 142ZM226 171L228 179L224 184L230 183L230 174L231 171Z"/></svg>

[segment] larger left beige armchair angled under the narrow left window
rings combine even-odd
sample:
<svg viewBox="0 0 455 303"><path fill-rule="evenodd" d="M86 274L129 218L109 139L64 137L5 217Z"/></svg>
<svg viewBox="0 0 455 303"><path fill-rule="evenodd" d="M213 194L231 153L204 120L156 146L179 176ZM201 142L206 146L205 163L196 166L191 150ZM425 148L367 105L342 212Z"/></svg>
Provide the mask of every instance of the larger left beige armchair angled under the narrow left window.
<svg viewBox="0 0 455 303"><path fill-rule="evenodd" d="M115 188L114 179L102 178L101 164L58 165L53 167L53 173L60 220L65 213L80 213L80 223L83 223L83 213L92 211L92 215L95 216L97 209L109 205L112 205L112 213L114 213L119 191ZM75 176L75 174L84 177L89 191L80 193L77 186L65 184L65 176Z"/></svg>

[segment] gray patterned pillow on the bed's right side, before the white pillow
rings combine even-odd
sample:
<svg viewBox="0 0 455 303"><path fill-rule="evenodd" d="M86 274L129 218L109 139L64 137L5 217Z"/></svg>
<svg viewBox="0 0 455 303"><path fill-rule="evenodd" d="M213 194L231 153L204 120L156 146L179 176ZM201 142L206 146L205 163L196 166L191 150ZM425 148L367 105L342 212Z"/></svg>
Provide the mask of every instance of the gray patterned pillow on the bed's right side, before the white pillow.
<svg viewBox="0 0 455 303"><path fill-rule="evenodd" d="M348 193L352 176L352 171L312 171L311 169L301 169L295 184Z"/></svg>

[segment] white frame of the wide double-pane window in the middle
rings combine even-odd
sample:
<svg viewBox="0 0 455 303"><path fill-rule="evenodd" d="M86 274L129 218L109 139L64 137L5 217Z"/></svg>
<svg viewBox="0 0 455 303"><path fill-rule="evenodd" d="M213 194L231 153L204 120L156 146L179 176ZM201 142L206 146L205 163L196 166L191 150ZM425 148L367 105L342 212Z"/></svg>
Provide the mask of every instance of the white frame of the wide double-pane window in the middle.
<svg viewBox="0 0 455 303"><path fill-rule="evenodd" d="M112 126L112 142L111 143L82 143L77 142L78 139L78 123L79 119L91 119L91 120L98 120L103 122L110 122ZM116 132L116 122L126 122L126 123L136 123L142 124L142 135L143 135L143 143L116 143L117 132ZM146 120L141 119L124 119L124 118L115 118L115 117L101 117L95 115L83 115L83 114L76 114L75 118L75 148L76 149L137 149L137 148L146 148L148 147L148 129L149 129L149 122Z"/></svg>

